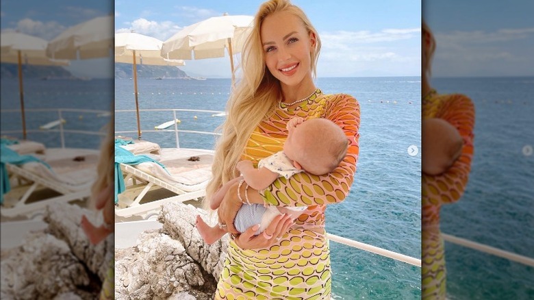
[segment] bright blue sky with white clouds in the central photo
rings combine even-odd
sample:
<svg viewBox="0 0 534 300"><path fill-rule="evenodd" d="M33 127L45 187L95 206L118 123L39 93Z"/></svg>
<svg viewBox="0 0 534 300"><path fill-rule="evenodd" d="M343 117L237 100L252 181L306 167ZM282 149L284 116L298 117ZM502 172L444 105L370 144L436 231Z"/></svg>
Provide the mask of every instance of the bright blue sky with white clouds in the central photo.
<svg viewBox="0 0 534 300"><path fill-rule="evenodd" d="M377 2L377 3L375 3ZM116 32L167 40L180 29L223 13L253 16L263 1L117 0ZM322 40L318 77L419 76L420 1L292 1ZM335 3L335 5L333 4ZM225 58L186 60L188 75L230 77Z"/></svg>

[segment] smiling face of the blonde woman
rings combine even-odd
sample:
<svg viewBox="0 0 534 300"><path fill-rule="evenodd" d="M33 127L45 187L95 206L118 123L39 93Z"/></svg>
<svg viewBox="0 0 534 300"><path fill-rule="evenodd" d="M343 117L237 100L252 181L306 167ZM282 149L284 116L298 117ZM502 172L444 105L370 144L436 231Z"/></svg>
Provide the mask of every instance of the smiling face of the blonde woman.
<svg viewBox="0 0 534 300"><path fill-rule="evenodd" d="M289 12L271 14L264 19L260 33L265 64L282 84L295 86L311 77L316 39L298 17Z"/></svg>

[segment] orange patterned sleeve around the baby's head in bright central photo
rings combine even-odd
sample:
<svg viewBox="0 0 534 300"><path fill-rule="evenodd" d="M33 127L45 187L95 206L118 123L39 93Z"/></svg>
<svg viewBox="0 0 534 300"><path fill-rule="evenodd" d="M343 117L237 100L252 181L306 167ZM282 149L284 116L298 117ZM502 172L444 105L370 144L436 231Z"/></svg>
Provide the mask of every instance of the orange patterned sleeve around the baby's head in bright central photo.
<svg viewBox="0 0 534 300"><path fill-rule="evenodd" d="M339 125L350 140L347 154L338 168L327 175L298 173L280 177L260 191L264 201L277 206L325 205L343 201L353 184L359 153L359 103L350 95L326 95L320 117ZM314 110L309 110L312 114ZM308 114L308 115L310 115Z"/></svg>

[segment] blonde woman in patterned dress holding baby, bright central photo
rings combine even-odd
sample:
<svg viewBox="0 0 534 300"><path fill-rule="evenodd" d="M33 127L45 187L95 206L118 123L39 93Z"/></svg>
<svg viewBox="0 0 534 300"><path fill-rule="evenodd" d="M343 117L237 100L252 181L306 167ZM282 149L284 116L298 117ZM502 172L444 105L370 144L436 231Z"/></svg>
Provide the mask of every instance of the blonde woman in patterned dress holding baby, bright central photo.
<svg viewBox="0 0 534 300"><path fill-rule="evenodd" d="M358 156L359 105L350 95L324 95L312 73L320 38L304 12L286 0L262 4L242 51L242 79L228 103L223 136L216 147L207 199L238 177L240 160L257 162L281 151L286 125L295 117L328 118L351 140L338 168L328 175L299 173L264 190L234 184L218 208L221 227L238 234L233 218L243 201L308 206L301 216L277 216L254 236L257 226L230 241L216 299L329 299L330 253L325 236L326 205L342 201L353 183Z"/></svg>

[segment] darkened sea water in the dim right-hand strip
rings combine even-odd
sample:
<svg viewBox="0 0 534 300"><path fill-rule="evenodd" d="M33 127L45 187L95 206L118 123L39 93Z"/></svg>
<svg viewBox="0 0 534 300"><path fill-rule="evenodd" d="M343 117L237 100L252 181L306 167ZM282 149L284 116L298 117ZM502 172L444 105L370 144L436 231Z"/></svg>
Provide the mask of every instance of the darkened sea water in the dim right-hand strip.
<svg viewBox="0 0 534 300"><path fill-rule="evenodd" d="M475 105L474 158L442 232L534 258L534 77L437 78ZM526 148L525 148L526 147ZM534 299L534 268L445 243L450 299Z"/></svg>

